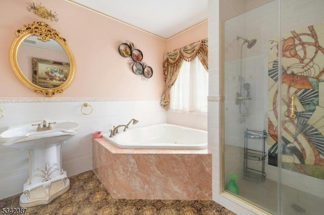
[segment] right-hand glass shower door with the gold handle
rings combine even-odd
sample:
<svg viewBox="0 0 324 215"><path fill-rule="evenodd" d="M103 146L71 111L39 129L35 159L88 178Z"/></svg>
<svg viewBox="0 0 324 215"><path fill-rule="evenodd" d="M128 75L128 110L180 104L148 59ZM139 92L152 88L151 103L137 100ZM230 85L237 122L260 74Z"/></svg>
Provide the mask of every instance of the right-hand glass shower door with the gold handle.
<svg viewBox="0 0 324 215"><path fill-rule="evenodd" d="M279 211L323 214L324 1L281 0L280 8Z"/></svg>

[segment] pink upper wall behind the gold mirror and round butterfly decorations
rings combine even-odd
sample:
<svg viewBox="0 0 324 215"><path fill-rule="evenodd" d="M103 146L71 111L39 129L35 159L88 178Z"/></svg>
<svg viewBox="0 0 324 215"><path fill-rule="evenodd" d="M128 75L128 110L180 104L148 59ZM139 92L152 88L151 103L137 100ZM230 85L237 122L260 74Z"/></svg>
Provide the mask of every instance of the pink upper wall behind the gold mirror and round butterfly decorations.
<svg viewBox="0 0 324 215"><path fill-rule="evenodd" d="M38 1L37 1L38 2ZM71 85L56 97L160 97L165 88L162 58L166 40L63 0L43 0L59 15L58 22L37 17L26 2L2 0L0 7L0 97L43 97L24 86L12 72L9 49L17 29L45 21L58 30L73 52L76 70ZM153 76L143 81L132 73L118 45L132 41L143 52Z"/></svg>

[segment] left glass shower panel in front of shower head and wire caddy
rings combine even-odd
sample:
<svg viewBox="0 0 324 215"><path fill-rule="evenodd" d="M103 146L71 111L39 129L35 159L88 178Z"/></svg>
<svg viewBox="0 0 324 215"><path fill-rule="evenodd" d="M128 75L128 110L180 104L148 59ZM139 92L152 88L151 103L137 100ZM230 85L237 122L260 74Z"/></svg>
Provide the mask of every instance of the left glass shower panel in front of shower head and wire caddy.
<svg viewBox="0 0 324 215"><path fill-rule="evenodd" d="M266 2L224 22L224 189L278 214L278 170L268 165L268 47L277 43L268 41L278 38L279 10Z"/></svg>

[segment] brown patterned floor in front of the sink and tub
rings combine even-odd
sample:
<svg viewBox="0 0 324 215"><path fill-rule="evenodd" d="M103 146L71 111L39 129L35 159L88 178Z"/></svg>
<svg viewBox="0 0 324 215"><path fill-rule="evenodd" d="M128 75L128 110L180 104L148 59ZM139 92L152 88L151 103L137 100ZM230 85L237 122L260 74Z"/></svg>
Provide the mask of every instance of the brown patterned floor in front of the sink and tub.
<svg viewBox="0 0 324 215"><path fill-rule="evenodd" d="M19 207L19 195L0 200L0 208ZM93 171L70 177L70 189L26 214L235 214L212 200L113 199Z"/></svg>

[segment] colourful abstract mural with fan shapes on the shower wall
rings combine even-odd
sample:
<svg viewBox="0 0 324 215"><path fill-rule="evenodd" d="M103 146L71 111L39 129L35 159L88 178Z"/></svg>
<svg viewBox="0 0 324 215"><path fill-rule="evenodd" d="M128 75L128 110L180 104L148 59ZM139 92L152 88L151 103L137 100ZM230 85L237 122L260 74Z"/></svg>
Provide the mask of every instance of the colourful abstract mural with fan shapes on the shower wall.
<svg viewBox="0 0 324 215"><path fill-rule="evenodd" d="M268 49L268 163L277 166L281 159L284 169L324 179L324 23L292 30L281 39L281 95L277 37L269 40Z"/></svg>

